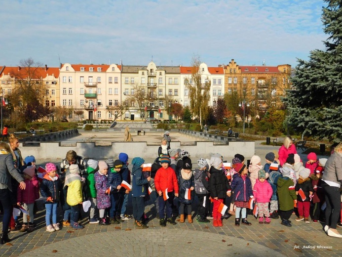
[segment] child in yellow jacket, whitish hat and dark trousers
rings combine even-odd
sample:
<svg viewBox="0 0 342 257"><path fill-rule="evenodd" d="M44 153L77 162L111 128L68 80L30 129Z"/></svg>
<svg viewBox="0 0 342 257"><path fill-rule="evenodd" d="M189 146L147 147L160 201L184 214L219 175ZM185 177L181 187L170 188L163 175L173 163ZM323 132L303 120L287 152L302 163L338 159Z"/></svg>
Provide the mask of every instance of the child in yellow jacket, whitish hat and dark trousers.
<svg viewBox="0 0 342 257"><path fill-rule="evenodd" d="M74 229L82 229L84 227L78 223L79 208L83 201L82 182L85 181L83 179L79 175L78 165L70 165L65 177L64 186L68 186L67 203L71 207L70 223Z"/></svg>

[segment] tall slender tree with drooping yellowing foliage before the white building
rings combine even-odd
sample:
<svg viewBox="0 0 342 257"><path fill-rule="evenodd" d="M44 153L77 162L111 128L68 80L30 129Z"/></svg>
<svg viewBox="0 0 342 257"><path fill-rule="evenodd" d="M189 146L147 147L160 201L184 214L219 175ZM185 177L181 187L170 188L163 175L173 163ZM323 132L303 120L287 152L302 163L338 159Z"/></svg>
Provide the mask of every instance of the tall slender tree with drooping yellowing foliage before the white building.
<svg viewBox="0 0 342 257"><path fill-rule="evenodd" d="M208 78L202 78L199 65L201 64L198 57L193 57L191 61L191 78L193 85L188 80L185 86L189 88L190 110L194 117L199 118L201 130L203 129L203 122L205 122L209 115L209 99L210 99L210 85ZM203 81L204 83L203 83Z"/></svg>

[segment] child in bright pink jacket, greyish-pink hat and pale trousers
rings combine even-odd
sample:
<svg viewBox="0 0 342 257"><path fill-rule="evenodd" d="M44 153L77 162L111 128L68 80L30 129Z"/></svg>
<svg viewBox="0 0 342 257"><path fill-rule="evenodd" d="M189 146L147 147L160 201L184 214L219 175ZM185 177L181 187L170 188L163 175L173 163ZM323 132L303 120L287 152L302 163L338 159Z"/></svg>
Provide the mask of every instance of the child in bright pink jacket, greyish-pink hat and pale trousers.
<svg viewBox="0 0 342 257"><path fill-rule="evenodd" d="M253 189L254 199L257 202L257 206L259 208L259 224L264 223L264 215L265 224L269 224L271 222L271 220L269 219L268 204L272 194L273 190L270 184L266 181L266 172L260 170L258 172L258 179Z"/></svg>

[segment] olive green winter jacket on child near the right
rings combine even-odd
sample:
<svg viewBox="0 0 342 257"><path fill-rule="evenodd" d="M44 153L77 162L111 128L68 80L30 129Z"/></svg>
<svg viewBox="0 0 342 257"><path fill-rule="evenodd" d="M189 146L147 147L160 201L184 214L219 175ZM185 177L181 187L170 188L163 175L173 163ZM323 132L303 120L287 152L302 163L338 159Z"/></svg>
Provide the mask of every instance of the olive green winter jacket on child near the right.
<svg viewBox="0 0 342 257"><path fill-rule="evenodd" d="M277 185L279 199L279 210L290 211L294 207L294 200L297 200L295 186L291 178L279 177Z"/></svg>

